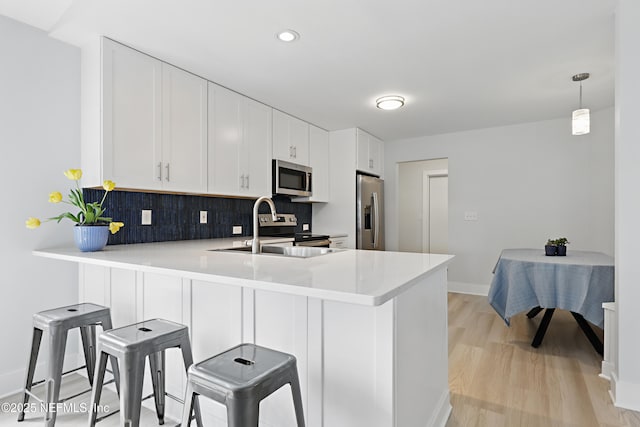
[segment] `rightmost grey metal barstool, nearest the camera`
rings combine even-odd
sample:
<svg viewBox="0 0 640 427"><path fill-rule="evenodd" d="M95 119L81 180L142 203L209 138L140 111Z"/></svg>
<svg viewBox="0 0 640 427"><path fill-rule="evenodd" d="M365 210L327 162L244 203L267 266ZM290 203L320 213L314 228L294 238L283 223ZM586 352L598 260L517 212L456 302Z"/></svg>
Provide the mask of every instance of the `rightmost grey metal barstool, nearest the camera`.
<svg viewBox="0 0 640 427"><path fill-rule="evenodd" d="M298 427L304 427L296 358L287 353L241 344L189 368L182 426L189 427L197 395L227 407L229 427L258 427L260 401L291 385Z"/></svg>

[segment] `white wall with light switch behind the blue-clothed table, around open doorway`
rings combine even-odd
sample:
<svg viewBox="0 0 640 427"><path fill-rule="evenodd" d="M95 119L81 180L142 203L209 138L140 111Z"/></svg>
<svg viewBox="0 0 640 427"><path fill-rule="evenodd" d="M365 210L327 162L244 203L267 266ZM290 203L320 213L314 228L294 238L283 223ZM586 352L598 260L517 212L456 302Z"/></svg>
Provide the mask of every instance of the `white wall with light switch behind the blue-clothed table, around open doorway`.
<svg viewBox="0 0 640 427"><path fill-rule="evenodd" d="M397 163L448 158L450 284L486 290L502 249L542 250L550 237L613 255L613 109L592 112L580 137L570 117L387 142L388 250L398 249Z"/></svg>

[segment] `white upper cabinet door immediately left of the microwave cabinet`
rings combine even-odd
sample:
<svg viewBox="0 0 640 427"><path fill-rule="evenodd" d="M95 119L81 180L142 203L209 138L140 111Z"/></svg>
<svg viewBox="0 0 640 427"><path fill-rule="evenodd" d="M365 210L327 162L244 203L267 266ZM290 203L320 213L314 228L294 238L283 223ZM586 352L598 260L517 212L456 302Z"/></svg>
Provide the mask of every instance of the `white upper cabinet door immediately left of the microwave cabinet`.
<svg viewBox="0 0 640 427"><path fill-rule="evenodd" d="M244 138L240 150L240 172L247 196L270 196L272 108L245 98Z"/></svg>

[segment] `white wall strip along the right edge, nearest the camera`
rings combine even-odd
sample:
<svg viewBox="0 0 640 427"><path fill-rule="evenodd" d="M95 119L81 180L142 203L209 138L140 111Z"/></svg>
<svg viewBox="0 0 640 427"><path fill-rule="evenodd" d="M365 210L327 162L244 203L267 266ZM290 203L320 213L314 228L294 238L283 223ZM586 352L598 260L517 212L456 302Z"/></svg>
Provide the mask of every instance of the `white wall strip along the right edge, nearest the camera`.
<svg viewBox="0 0 640 427"><path fill-rule="evenodd" d="M618 406L640 411L640 3L616 10L616 305L618 360L611 391Z"/></svg>

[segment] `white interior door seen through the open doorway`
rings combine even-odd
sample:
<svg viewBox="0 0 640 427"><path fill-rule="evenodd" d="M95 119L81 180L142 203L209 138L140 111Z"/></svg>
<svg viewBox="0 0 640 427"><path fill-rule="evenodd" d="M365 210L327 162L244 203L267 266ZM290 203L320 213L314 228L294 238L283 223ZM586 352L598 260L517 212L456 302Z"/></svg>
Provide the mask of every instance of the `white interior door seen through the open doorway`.
<svg viewBox="0 0 640 427"><path fill-rule="evenodd" d="M449 250L449 176L447 171L425 171L423 178L422 251Z"/></svg>

